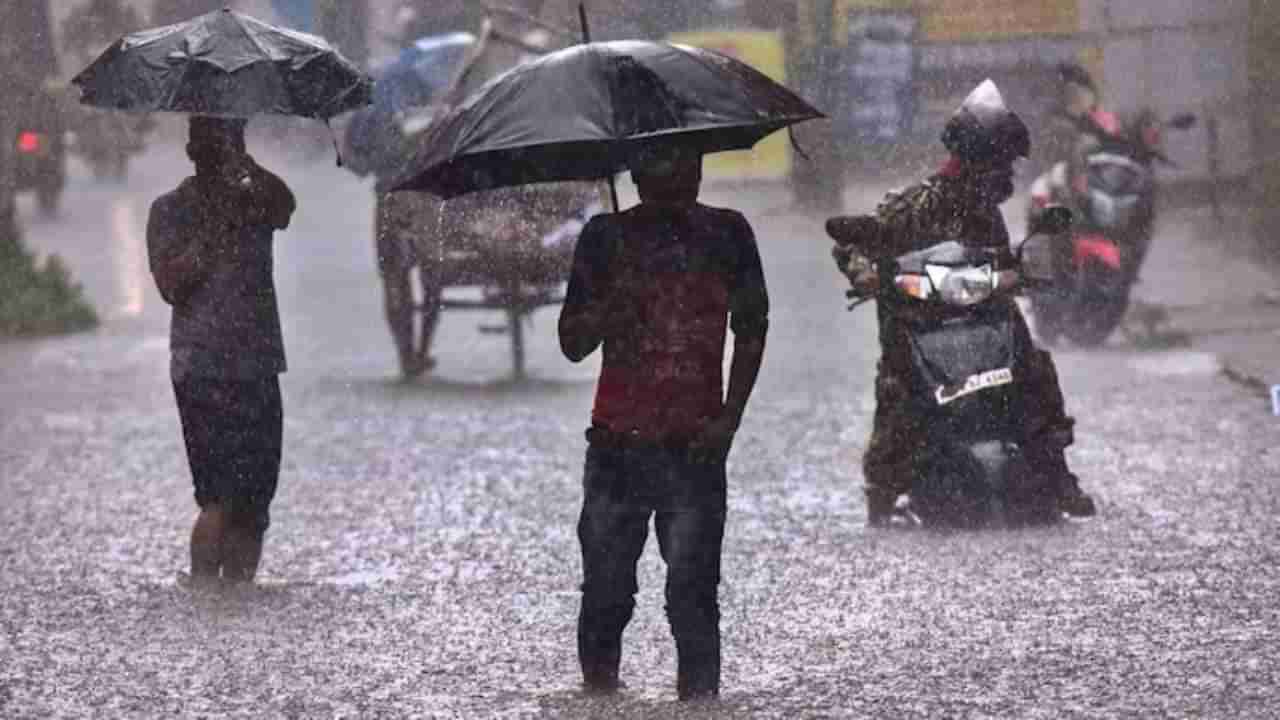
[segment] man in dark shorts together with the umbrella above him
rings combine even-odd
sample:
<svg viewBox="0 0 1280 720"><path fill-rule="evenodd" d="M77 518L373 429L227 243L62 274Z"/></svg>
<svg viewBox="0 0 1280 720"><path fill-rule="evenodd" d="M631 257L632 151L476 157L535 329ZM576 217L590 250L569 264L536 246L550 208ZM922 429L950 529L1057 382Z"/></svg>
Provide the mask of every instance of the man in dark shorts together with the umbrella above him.
<svg viewBox="0 0 1280 720"><path fill-rule="evenodd" d="M329 119L372 82L323 38L230 9L127 35L72 81L81 102L188 113L196 174L151 205L147 254L173 306L170 374L200 515L191 575L253 579L280 469L285 369L273 236L293 193L244 145L259 114Z"/></svg>

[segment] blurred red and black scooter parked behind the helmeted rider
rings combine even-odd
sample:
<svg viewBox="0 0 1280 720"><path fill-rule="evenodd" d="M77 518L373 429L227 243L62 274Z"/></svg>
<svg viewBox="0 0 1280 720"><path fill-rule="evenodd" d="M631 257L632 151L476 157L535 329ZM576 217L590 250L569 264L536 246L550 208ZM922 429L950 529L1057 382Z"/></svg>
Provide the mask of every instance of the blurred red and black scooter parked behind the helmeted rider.
<svg viewBox="0 0 1280 720"><path fill-rule="evenodd" d="M1174 164L1161 149L1162 129L1188 129L1196 117L1180 114L1161 123L1144 111L1121 124L1110 113L1096 111L1078 122L1082 133L1097 138L1084 167L1068 177L1073 170L1059 163L1032 184L1029 218L1051 202L1065 202L1078 222L1069 256L1059 258L1061 281L1053 290L1032 293L1030 305L1043 342L1065 336L1076 346L1096 347L1124 318L1151 247L1155 164Z"/></svg>

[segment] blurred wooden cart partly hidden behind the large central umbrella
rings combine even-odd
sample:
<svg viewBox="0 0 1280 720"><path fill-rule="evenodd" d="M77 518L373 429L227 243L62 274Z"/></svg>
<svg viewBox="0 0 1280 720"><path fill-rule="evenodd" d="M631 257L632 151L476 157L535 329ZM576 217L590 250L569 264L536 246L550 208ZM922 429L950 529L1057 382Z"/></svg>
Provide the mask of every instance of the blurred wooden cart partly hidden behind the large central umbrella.
<svg viewBox="0 0 1280 720"><path fill-rule="evenodd" d="M429 137L431 119L489 78L572 41L529 18L488 19L443 100L404 120L406 137ZM421 192L379 193L379 266L402 374L413 377L434 364L429 347L442 311L485 310L506 314L504 324L480 329L509 334L513 374L522 378L529 318L563 301L577 232L604 209L603 190L602 183L548 183L447 201ZM407 279L412 274L416 282ZM454 292L461 288L470 292Z"/></svg>

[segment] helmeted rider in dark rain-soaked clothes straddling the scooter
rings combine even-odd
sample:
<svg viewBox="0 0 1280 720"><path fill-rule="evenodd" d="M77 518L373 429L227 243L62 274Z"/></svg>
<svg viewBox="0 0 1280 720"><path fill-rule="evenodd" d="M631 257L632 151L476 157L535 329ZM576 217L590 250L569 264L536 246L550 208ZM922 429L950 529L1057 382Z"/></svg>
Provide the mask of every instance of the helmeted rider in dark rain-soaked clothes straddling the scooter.
<svg viewBox="0 0 1280 720"><path fill-rule="evenodd" d="M896 258L919 243L940 238L986 247L1009 247L1009 229L1000 205L1014 193L1014 163L1030 151L1023 120L1005 106L998 88L986 81L947 122L942 143L950 160L933 177L890 193L874 215L836 217L827 232L837 240L836 265L855 287L876 281L874 261ZM874 249L872 258L851 249ZM1012 302L1012 300L1009 300ZM1014 313L1019 319L1020 313ZM1029 333L1024 320L1015 332ZM1059 507L1070 515L1094 514L1068 469L1064 450L1074 439L1074 420L1066 415L1053 360L1037 348L1025 360L1028 419L1024 447L1036 466L1057 478ZM900 328L881 314L881 360L876 378L876 419L863 456L867 514L873 525L886 524L900 495L910 491L913 450L929 442L929 429L908 411L910 351Z"/></svg>

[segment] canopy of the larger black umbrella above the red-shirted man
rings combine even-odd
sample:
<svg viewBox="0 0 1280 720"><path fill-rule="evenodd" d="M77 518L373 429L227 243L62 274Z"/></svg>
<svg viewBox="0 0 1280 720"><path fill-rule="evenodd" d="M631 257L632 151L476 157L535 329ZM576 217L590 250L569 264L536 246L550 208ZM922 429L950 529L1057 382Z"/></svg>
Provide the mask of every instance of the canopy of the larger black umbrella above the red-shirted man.
<svg viewBox="0 0 1280 720"><path fill-rule="evenodd" d="M598 179L636 151L681 143L746 150L823 114L719 53L648 41L589 42L495 77L428 132L385 190L452 197L535 182Z"/></svg>

